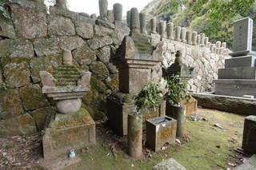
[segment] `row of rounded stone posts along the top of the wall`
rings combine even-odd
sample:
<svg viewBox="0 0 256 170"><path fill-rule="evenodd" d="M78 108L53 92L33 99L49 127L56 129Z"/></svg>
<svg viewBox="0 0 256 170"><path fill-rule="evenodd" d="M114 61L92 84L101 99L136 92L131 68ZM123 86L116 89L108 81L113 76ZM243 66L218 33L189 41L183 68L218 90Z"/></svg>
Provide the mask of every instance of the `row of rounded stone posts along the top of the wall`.
<svg viewBox="0 0 256 170"><path fill-rule="evenodd" d="M108 19L110 22L122 22L122 4L115 3L113 10L107 10L107 6L107 0L99 0L100 16L98 18ZM127 11L126 22L130 30L138 30L142 34L148 34L146 31L146 14L138 13L137 8L132 8ZM150 19L150 34L157 34L156 18ZM212 44L205 34L198 34L197 31L187 30L181 26L174 26L173 22L166 24L166 22L160 21L158 23L158 34L161 38L210 48L212 53L222 54L227 50L226 42L216 42L216 44Z"/></svg>

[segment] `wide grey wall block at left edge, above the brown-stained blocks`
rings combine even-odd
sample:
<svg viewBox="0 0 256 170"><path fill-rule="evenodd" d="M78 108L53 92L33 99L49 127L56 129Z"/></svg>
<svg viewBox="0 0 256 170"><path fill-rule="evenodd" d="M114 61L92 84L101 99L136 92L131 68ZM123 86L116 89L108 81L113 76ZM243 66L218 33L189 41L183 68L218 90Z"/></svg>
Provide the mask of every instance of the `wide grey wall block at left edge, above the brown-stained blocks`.
<svg viewBox="0 0 256 170"><path fill-rule="evenodd" d="M5 39L0 41L0 57L34 57L34 47L28 40Z"/></svg>

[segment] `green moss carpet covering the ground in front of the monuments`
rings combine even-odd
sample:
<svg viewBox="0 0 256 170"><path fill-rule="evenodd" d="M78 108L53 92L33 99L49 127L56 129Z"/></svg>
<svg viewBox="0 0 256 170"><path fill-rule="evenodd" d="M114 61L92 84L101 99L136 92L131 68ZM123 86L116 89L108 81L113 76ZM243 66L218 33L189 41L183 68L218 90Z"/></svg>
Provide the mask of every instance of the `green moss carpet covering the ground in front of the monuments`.
<svg viewBox="0 0 256 170"><path fill-rule="evenodd" d="M133 161L126 155L125 143L123 144L124 147L115 149L116 152L113 154L111 147L107 145L110 143L106 142L104 136L101 136L98 144L90 147L89 151L81 156L82 162L78 164L76 170L152 169L155 164L171 157L187 170L227 168L227 158L231 154L229 148L237 148L242 144L244 117L208 109L199 109L198 115L206 117L209 121L187 120L186 128L192 138L186 144L174 144L165 151L152 152L151 158L146 157L142 160ZM222 125L225 129L214 128L215 123ZM234 143L229 142L231 138L235 139ZM123 137L122 140L126 141L126 137ZM216 145L221 145L221 148L217 148ZM131 166L132 164L134 167Z"/></svg>

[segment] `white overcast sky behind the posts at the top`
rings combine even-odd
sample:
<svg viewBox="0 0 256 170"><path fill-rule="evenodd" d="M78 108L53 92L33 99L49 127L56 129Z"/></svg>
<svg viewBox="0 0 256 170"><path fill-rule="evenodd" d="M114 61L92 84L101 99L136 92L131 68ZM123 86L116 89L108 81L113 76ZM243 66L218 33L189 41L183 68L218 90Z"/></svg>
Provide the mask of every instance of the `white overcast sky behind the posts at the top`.
<svg viewBox="0 0 256 170"><path fill-rule="evenodd" d="M122 4L122 15L126 16L127 10L137 7L142 10L151 0L108 0L108 10L113 9L114 3ZM84 12L87 14L99 14L98 0L68 0L70 10L75 12Z"/></svg>

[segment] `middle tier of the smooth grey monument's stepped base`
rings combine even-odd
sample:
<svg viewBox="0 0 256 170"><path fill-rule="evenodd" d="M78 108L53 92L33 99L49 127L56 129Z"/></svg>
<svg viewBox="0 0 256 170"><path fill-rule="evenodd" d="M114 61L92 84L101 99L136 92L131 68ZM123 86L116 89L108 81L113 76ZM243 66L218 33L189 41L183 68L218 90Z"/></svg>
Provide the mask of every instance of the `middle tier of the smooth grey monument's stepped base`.
<svg viewBox="0 0 256 170"><path fill-rule="evenodd" d="M254 79L256 80L255 67L236 67L218 69L218 79Z"/></svg>

